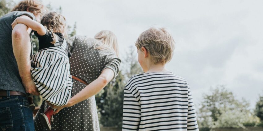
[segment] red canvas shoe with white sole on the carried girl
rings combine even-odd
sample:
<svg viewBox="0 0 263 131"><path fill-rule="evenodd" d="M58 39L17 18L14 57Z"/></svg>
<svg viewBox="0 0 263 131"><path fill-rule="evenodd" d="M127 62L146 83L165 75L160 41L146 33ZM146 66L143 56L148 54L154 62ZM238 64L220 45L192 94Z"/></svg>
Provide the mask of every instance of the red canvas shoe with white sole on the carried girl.
<svg viewBox="0 0 263 131"><path fill-rule="evenodd" d="M51 130L51 117L53 116L54 110L47 108L44 113L40 114L40 121L43 127Z"/></svg>

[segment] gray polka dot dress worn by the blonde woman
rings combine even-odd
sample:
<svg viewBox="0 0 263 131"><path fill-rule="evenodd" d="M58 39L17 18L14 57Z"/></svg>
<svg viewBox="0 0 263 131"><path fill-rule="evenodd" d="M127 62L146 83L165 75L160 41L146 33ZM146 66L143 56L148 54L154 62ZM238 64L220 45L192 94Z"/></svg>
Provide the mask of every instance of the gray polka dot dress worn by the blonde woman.
<svg viewBox="0 0 263 131"><path fill-rule="evenodd" d="M71 75L89 84L97 79L105 68L112 69L114 77L118 74L121 60L111 49L95 49L95 43L97 43L97 46L101 44L96 39L74 36L68 39L67 42L69 47L71 47L72 53L70 58ZM73 80L71 96L75 96L85 87L85 84ZM40 113L44 112L46 108L48 108L48 105L43 101L34 120L36 131L49 131L49 129L45 129L41 125L39 118ZM54 121L51 122L52 131L100 130L95 96L79 102L72 107L63 108L53 117Z"/></svg>

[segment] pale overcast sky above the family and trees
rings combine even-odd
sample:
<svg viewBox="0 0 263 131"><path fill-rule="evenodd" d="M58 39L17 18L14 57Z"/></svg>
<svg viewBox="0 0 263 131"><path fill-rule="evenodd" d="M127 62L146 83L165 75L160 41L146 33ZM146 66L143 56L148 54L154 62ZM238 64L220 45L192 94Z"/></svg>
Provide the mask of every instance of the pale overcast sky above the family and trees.
<svg viewBox="0 0 263 131"><path fill-rule="evenodd" d="M19 0L15 0L18 2ZM62 7L77 35L111 30L125 55L141 32L167 27L176 42L167 68L188 80L195 104L210 87L225 85L255 108L263 94L263 1L43 0ZM121 57L123 58L123 57Z"/></svg>

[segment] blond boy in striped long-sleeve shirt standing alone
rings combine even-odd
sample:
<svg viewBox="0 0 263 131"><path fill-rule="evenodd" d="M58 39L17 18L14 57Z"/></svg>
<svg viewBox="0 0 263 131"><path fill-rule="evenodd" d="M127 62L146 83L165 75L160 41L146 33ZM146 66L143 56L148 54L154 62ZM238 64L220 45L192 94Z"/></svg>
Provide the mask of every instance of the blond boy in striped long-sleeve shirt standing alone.
<svg viewBox="0 0 263 131"><path fill-rule="evenodd" d="M124 88L123 131L198 131L187 81L165 68L174 43L165 28L151 27L137 39L145 73L132 76Z"/></svg>

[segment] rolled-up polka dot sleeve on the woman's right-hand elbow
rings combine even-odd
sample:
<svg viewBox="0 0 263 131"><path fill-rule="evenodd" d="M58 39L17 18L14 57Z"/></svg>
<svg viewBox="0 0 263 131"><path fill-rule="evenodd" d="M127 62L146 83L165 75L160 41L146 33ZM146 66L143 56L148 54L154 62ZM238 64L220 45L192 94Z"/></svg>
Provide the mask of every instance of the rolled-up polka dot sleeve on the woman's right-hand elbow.
<svg viewBox="0 0 263 131"><path fill-rule="evenodd" d="M116 56L116 55L111 55L111 56L108 56L108 58L106 58L108 60L106 60L106 65L105 67L102 69L102 71L106 68L109 68L111 69L113 72L114 72L114 77L113 79L116 78L116 76L118 75L119 73L119 67L120 67L120 63L121 63L121 60ZM101 71L101 72L102 72ZM112 80L113 80L112 79Z"/></svg>

